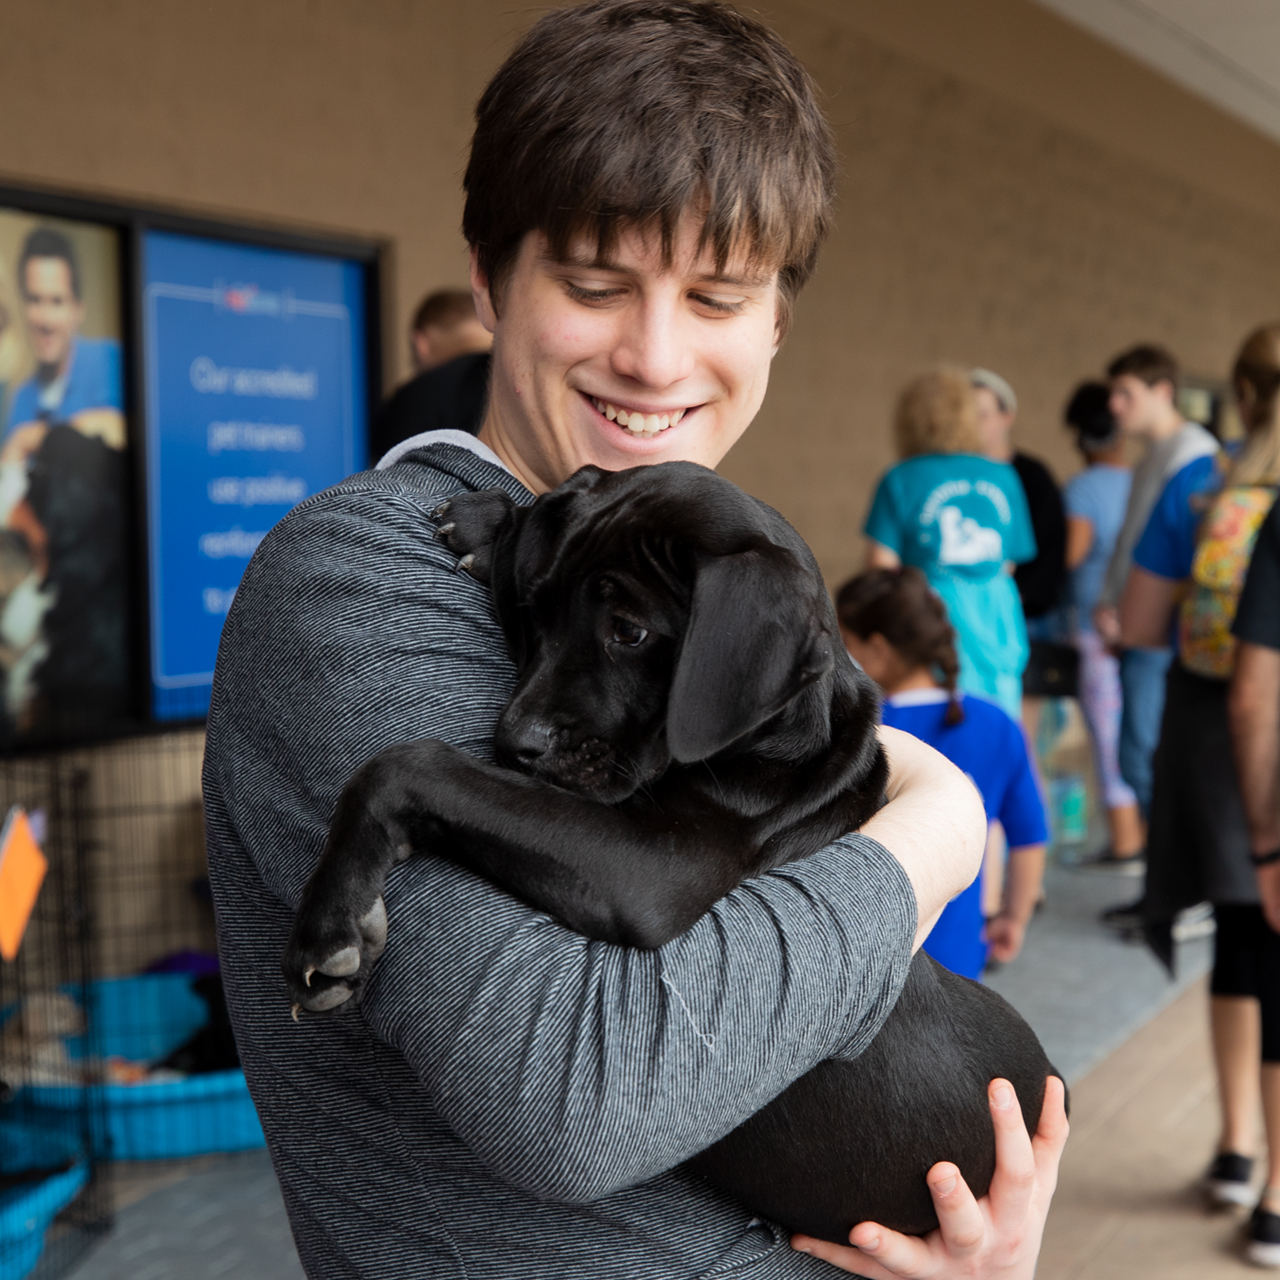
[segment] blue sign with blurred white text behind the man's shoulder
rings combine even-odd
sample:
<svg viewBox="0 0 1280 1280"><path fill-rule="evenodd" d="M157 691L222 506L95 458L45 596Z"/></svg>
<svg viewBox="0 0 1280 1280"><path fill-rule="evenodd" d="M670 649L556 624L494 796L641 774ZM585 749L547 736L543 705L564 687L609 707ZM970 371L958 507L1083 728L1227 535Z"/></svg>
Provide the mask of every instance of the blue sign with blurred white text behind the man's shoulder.
<svg viewBox="0 0 1280 1280"><path fill-rule="evenodd" d="M152 713L187 719L262 536L365 466L364 269L148 232L142 298Z"/></svg>

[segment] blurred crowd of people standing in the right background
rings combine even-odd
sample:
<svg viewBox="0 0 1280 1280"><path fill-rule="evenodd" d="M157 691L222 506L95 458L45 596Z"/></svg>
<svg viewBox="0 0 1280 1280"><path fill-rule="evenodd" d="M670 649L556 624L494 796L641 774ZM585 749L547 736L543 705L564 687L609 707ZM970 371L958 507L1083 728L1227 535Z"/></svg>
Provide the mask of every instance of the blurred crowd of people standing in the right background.
<svg viewBox="0 0 1280 1280"><path fill-rule="evenodd" d="M1280 1266L1280 324L1248 335L1229 387L1193 421L1170 352L1116 356L1068 399L1082 468L1060 489L1012 447L1004 378L914 379L867 568L836 604L884 722L986 803L983 872L925 942L959 973L1021 947L1050 837L1028 739L1043 696L1079 700L1110 835L1091 861L1144 876L1103 923L1172 969L1179 928L1212 915L1222 1132L1204 1187L1254 1203L1261 1112L1249 1256Z"/></svg>

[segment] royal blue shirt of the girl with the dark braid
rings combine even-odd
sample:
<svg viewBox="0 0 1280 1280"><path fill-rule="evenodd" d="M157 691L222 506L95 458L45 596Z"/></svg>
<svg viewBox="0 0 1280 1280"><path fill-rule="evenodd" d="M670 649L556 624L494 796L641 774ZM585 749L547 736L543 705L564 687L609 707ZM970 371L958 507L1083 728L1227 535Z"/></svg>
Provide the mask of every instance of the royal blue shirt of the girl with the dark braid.
<svg viewBox="0 0 1280 1280"><path fill-rule="evenodd" d="M1036 782L1021 726L982 698L964 699L964 719L946 723L945 689L913 689L884 700L886 724L913 733L941 751L973 778L988 822L1005 828L1010 849L1048 840L1044 801ZM982 874L938 916L924 950L964 978L980 978L987 966L982 937Z"/></svg>

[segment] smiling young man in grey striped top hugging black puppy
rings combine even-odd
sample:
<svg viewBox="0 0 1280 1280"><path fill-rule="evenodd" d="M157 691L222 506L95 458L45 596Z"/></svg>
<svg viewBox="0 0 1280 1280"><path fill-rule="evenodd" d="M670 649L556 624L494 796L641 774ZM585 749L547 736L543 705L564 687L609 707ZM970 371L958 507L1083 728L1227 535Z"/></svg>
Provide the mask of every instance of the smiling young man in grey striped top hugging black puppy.
<svg viewBox="0 0 1280 1280"><path fill-rule="evenodd" d="M431 512L467 489L530 502L589 462L714 465L759 407L827 223L808 78L717 4L550 13L476 120L463 229L494 333L480 439L406 442L302 503L224 631L205 797L246 1074L310 1275L818 1276L678 1165L859 1052L973 877L980 803L905 737L887 737L891 800L863 833L742 886L659 952L588 942L424 850L388 883L361 1004L289 1020L279 956L343 783L406 739L492 758L512 689L488 593ZM805 1247L868 1276L1029 1280L1065 1120L1055 1085L1033 1147L1010 1094L992 1088L988 1199L931 1171L945 1233L864 1224L864 1248Z"/></svg>

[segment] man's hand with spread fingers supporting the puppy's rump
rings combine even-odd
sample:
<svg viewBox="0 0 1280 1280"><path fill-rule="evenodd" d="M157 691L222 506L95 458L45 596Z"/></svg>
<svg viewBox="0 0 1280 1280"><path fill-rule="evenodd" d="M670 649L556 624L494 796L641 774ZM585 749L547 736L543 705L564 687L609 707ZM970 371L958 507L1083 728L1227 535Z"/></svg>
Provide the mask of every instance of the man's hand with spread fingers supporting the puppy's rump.
<svg viewBox="0 0 1280 1280"><path fill-rule="evenodd" d="M1007 1080L992 1080L987 1096L996 1176L983 1199L973 1198L955 1165L938 1164L928 1180L940 1225L924 1239L859 1222L849 1233L852 1248L808 1235L792 1236L792 1247L868 1280L1032 1280L1066 1143L1065 1091L1050 1076L1034 1139Z"/></svg>

